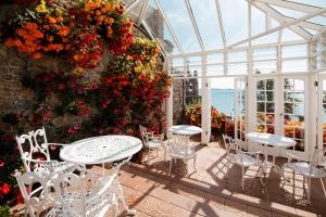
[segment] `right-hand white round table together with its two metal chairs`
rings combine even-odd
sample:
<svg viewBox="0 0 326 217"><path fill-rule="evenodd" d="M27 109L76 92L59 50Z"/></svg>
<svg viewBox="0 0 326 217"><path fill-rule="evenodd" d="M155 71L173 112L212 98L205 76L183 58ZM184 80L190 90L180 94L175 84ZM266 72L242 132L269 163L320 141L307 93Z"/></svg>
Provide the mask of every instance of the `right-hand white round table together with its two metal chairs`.
<svg viewBox="0 0 326 217"><path fill-rule="evenodd" d="M296 141L291 138L284 136L263 133L263 132L250 132L247 133L247 140L249 142L255 142L258 146L258 152L244 152L241 150L241 146L246 146L239 139L233 139L228 136L223 135L224 143L226 145L226 152L228 156L228 167L229 163L241 166L242 168L242 190L244 190L243 175L244 168L250 166L260 167L260 177L261 181L264 184L262 178L263 174L266 173L267 167L272 167L274 171L278 173L283 178L283 184L286 183L287 179L285 178L285 170L293 170L293 173L300 174L303 176L303 182L308 180L308 200L311 197L311 179L318 178L322 182L323 190L326 196L326 191L322 178L326 177L326 164L325 164L325 150L314 149L310 159L303 159L299 156L294 156L291 153L288 153L289 148L296 145ZM276 154L269 154L268 148L272 146L276 150ZM281 156L283 153L286 153L288 162L285 163L281 167L275 164L275 156ZM260 154L263 155L261 159ZM273 156L273 161L268 161L268 155ZM324 166L319 166L323 163Z"/></svg>

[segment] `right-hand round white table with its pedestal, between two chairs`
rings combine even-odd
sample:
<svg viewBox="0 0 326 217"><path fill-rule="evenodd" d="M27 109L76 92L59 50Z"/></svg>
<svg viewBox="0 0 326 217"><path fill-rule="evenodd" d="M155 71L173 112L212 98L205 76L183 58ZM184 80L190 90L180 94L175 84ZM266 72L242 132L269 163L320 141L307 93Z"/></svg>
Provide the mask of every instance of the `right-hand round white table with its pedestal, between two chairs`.
<svg viewBox="0 0 326 217"><path fill-rule="evenodd" d="M274 161L273 161L273 163L268 162L268 153L267 153L268 145L277 148L280 151L296 145L296 141L291 138L279 136L279 135L264 133L264 132L247 133L247 139L258 142L259 144L262 145L262 151L264 154L264 162L263 162L263 171L264 173L265 173L265 169L267 166L277 168L277 169L275 169L275 171L280 173L280 168L275 164Z"/></svg>

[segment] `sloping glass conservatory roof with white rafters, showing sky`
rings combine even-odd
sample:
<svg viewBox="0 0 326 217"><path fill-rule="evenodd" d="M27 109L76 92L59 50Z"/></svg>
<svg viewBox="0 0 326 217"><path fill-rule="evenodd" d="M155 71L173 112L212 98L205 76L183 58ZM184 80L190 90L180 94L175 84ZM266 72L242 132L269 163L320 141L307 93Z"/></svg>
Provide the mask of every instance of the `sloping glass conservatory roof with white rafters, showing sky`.
<svg viewBox="0 0 326 217"><path fill-rule="evenodd" d="M125 0L127 13L165 54L309 42L325 29L326 0ZM304 20L301 17L304 16ZM301 18L300 22L296 20ZM251 26L251 29L249 28Z"/></svg>

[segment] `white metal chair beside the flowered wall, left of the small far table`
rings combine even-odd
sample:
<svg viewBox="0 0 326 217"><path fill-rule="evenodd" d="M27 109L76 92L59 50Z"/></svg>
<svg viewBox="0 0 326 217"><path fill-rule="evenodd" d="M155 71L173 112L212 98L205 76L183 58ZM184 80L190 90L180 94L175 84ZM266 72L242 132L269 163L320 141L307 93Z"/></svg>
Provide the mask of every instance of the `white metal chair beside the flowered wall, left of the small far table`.
<svg viewBox="0 0 326 217"><path fill-rule="evenodd" d="M159 149L163 148L164 150L164 159L166 157L166 148L164 144L164 133L162 135L154 135L153 131L149 131L146 127L139 125L141 139L143 145L148 149L148 158L147 162L149 163L151 159L156 158L159 156ZM156 151L156 155L151 157L151 150Z"/></svg>

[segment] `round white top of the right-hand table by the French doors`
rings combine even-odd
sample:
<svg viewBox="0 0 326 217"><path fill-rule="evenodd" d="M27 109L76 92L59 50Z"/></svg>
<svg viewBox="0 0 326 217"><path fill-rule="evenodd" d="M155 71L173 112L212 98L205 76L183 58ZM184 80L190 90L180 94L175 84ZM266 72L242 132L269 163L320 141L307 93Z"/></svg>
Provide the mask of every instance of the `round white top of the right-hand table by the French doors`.
<svg viewBox="0 0 326 217"><path fill-rule="evenodd" d="M279 135L250 132L247 135L247 138L252 141L273 146L289 148L296 145L296 141L293 139Z"/></svg>

